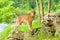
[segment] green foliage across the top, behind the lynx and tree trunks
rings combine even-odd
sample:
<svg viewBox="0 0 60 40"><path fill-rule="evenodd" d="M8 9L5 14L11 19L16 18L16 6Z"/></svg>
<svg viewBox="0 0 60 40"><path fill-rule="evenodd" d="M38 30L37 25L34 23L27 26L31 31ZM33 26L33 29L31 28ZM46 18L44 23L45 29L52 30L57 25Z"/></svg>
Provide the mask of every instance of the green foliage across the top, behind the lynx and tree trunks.
<svg viewBox="0 0 60 40"><path fill-rule="evenodd" d="M47 11L48 1L44 0L43 2L44 2L44 10ZM0 22L11 22L14 15L14 11L18 10L17 8L19 10L26 10L26 12L27 10L36 9L37 8L36 1L35 0L0 0ZM51 0L51 12L59 9L60 9L60 0Z"/></svg>

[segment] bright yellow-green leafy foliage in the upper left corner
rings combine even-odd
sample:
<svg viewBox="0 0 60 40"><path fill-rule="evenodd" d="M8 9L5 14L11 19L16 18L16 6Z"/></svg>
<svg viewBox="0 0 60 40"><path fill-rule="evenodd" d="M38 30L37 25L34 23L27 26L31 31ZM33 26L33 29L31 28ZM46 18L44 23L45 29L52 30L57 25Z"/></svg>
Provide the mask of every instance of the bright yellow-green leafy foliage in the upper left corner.
<svg viewBox="0 0 60 40"><path fill-rule="evenodd" d="M13 1L0 1L0 22L10 21L14 11L14 7L11 6L12 4Z"/></svg>

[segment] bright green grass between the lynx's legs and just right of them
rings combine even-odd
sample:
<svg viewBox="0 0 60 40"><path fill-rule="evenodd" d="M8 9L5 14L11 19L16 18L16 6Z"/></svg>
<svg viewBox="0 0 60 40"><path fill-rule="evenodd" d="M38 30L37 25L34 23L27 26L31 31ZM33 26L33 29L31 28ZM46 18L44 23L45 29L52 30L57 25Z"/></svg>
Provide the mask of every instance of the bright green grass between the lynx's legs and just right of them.
<svg viewBox="0 0 60 40"><path fill-rule="evenodd" d="M40 27L41 25L38 23L38 21L37 20L34 20L33 22L32 22L32 27L33 27L33 29L34 28L37 28L37 27ZM21 25L20 27L18 27L18 30L21 30L21 31L28 31L28 24L26 23L26 24L23 24L23 25Z"/></svg>

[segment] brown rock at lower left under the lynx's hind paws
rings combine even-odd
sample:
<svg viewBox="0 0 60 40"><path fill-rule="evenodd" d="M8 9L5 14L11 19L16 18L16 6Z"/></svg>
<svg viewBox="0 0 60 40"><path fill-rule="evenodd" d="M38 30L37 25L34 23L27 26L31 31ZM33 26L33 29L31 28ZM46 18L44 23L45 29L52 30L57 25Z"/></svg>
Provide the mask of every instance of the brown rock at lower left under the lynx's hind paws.
<svg viewBox="0 0 60 40"><path fill-rule="evenodd" d="M8 40L23 40L24 39L24 32L22 31L14 31L8 35Z"/></svg>

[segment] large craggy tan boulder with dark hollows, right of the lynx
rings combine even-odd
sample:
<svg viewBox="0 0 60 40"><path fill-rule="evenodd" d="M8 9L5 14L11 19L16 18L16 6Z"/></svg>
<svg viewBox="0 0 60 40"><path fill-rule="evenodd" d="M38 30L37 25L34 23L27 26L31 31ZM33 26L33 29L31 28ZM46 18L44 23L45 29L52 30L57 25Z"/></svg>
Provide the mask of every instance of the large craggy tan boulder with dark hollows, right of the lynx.
<svg viewBox="0 0 60 40"><path fill-rule="evenodd" d="M50 30L50 32L54 35L60 30L60 12L51 13L48 17L48 14L44 16L44 20L42 21L43 27Z"/></svg>

